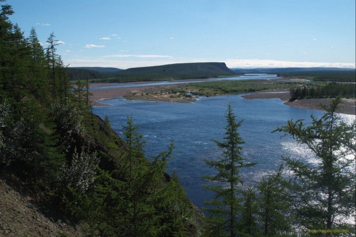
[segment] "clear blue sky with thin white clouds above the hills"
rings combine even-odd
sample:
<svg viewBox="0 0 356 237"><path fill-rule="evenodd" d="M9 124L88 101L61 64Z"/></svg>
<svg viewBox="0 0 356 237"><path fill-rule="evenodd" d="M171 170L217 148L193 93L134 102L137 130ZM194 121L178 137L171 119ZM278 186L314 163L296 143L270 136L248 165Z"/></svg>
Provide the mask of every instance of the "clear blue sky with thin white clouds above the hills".
<svg viewBox="0 0 356 237"><path fill-rule="evenodd" d="M70 67L355 68L355 0L7 0Z"/></svg>

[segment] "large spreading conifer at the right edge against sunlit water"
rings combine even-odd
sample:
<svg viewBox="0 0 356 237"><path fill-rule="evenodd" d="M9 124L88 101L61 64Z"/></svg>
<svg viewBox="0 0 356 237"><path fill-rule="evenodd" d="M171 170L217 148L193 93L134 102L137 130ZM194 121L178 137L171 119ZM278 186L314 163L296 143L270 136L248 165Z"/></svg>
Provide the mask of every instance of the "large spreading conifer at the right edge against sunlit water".
<svg viewBox="0 0 356 237"><path fill-rule="evenodd" d="M298 221L307 229L349 228L342 217L355 218L355 129L336 114L341 99L323 106L324 116L311 116L311 124L289 120L275 131L283 132L308 147L318 160L310 164L283 158L293 173L291 195ZM355 171L355 170L354 170ZM352 211L351 211L352 210Z"/></svg>

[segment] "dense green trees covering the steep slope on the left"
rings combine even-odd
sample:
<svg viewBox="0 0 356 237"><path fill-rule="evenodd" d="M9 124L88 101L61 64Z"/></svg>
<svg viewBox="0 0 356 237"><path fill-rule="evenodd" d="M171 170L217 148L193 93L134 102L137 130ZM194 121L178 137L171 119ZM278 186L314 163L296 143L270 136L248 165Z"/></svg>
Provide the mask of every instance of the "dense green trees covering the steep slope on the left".
<svg viewBox="0 0 356 237"><path fill-rule="evenodd" d="M119 138L90 113L88 80L70 85L55 35L43 48L34 28L25 38L9 20L13 13L1 5L0 178L16 177L88 236L195 235L198 215L166 173L173 142L149 161L131 118Z"/></svg>

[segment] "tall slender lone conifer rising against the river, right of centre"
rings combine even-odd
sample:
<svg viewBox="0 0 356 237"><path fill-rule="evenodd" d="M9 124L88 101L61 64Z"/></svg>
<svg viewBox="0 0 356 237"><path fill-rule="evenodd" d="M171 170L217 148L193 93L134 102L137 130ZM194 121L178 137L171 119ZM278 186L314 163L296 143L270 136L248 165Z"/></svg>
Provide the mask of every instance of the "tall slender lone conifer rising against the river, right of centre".
<svg viewBox="0 0 356 237"><path fill-rule="evenodd" d="M231 236L237 235L237 216L241 213L241 185L243 180L239 175L241 168L250 167L256 163L245 162L245 158L240 156L242 144L245 142L240 138L238 128L242 120L236 122L236 115L229 104L226 115L227 125L225 127L224 141L217 141L219 148L223 149L223 158L218 160L207 160L210 167L218 170L215 176L203 176L208 181L222 183L224 186L204 187L215 193L215 199L207 201L206 204L212 206L211 209L205 209L211 215L207 222L209 223L206 231L207 236Z"/></svg>

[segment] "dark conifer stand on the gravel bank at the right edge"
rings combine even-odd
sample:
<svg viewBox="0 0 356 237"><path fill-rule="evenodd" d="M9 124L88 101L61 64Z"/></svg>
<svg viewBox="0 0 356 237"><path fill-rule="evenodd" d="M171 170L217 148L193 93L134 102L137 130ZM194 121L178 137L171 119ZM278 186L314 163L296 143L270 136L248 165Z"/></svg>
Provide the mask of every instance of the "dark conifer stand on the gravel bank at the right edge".
<svg viewBox="0 0 356 237"><path fill-rule="evenodd" d="M319 99L319 98L336 98L342 96L344 98L355 98L356 84L355 83L336 83L330 82L325 86L303 86L291 89L291 99Z"/></svg>

